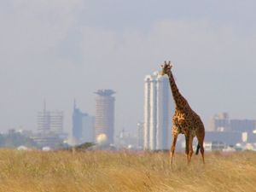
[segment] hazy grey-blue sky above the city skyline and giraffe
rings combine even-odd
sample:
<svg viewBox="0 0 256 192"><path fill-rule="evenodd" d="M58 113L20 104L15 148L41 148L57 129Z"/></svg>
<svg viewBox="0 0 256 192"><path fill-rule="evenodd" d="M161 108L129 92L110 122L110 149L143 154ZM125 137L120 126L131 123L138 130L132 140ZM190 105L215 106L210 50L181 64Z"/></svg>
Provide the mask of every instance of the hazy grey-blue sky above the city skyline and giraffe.
<svg viewBox="0 0 256 192"><path fill-rule="evenodd" d="M37 127L44 98L72 127L73 98L94 114L116 90L116 128L143 120L143 79L174 63L179 90L208 125L256 119L253 0L0 0L0 131Z"/></svg>

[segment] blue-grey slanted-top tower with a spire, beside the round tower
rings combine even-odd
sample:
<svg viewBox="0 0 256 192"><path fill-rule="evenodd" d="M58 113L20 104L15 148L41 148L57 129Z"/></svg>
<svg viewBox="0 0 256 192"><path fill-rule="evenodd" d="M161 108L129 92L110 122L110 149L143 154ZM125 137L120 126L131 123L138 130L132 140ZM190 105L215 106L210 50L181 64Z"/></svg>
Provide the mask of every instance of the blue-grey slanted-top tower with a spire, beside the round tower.
<svg viewBox="0 0 256 192"><path fill-rule="evenodd" d="M79 143L93 143L94 139L94 117L89 116L87 113L82 113L76 107L74 102L73 106L73 137Z"/></svg>

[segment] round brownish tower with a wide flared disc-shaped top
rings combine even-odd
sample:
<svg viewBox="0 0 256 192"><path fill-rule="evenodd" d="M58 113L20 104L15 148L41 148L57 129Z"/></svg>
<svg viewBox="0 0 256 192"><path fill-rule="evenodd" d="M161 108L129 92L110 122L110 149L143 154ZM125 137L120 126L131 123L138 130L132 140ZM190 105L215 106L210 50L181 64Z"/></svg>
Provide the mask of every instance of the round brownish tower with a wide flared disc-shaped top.
<svg viewBox="0 0 256 192"><path fill-rule="evenodd" d="M113 143L114 132L114 101L113 90L97 90L96 92L96 139L104 134L107 143Z"/></svg>

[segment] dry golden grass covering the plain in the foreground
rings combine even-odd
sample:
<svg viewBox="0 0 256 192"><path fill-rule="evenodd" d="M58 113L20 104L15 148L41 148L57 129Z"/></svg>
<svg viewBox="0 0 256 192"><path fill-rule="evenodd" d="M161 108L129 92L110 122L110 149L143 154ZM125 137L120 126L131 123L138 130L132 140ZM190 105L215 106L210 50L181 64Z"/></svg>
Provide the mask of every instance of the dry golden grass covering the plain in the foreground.
<svg viewBox="0 0 256 192"><path fill-rule="evenodd" d="M256 153L193 156L134 152L0 150L0 191L256 191Z"/></svg>

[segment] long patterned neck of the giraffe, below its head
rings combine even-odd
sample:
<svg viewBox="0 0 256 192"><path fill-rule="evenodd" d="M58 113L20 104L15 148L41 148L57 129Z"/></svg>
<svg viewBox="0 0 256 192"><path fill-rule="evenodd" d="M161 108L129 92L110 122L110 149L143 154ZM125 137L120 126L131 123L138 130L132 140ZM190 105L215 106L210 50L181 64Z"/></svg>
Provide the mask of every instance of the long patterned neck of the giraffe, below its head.
<svg viewBox="0 0 256 192"><path fill-rule="evenodd" d="M188 106L187 100L181 95L179 90L177 89L177 85L175 83L174 77L172 75L172 71L170 72L169 76L169 81L170 81L170 86L172 90L172 96L176 105L176 108L183 109Z"/></svg>

